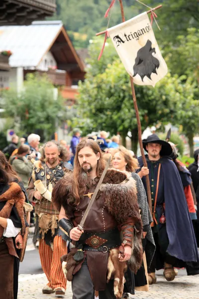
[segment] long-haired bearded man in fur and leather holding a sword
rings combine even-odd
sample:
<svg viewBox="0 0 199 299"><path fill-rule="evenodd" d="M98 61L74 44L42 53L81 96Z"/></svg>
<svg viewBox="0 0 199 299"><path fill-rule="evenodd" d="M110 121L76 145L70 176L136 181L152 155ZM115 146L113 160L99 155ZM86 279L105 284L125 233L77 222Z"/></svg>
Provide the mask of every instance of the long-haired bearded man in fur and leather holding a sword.
<svg viewBox="0 0 199 299"><path fill-rule="evenodd" d="M119 299L123 293L127 261L136 272L142 263L142 223L133 178L108 169L97 197L79 230L105 163L99 145L83 140L77 146L74 171L53 189L52 200L60 210L59 226L71 243L67 279L72 280L73 299ZM121 236L122 237L121 237ZM64 264L64 263L63 263ZM114 279L114 280L113 280ZM129 290L133 294L134 288Z"/></svg>

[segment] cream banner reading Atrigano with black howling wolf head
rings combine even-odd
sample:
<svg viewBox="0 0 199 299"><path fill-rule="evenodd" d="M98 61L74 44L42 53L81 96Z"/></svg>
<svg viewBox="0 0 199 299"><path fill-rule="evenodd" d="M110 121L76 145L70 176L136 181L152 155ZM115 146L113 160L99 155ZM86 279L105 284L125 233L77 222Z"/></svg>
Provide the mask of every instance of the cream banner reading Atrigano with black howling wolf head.
<svg viewBox="0 0 199 299"><path fill-rule="evenodd" d="M147 12L107 29L113 45L133 82L152 85L167 74Z"/></svg>

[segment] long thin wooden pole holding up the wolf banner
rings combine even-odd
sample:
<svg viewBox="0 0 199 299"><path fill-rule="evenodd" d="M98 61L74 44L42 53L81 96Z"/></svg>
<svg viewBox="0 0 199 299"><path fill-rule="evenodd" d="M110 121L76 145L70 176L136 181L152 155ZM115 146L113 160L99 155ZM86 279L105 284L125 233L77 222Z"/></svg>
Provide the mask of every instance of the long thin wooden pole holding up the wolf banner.
<svg viewBox="0 0 199 299"><path fill-rule="evenodd" d="M120 9L121 9L122 22L125 22L124 8L123 8L122 0L119 0L119 4L120 4ZM139 145L140 145L142 160L143 160L144 166L148 167L147 166L147 161L146 161L146 158L145 158L145 155L144 155L143 144L142 144L142 128L141 128L139 110L138 110L138 107L137 107L135 87L134 87L134 83L133 83L133 78L131 76L130 76L130 82L131 82L131 89L132 89L133 104L134 104L135 114L136 114L136 119L137 119L138 141L139 141ZM149 175L146 175L145 177L146 177L147 197L148 197L149 209L150 209L151 215L153 215Z"/></svg>

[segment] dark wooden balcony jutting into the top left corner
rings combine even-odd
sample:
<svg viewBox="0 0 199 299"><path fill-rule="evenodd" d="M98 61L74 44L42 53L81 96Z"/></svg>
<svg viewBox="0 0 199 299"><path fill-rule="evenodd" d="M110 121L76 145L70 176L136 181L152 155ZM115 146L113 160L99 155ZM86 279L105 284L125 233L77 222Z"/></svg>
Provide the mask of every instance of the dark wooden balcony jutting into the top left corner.
<svg viewBox="0 0 199 299"><path fill-rule="evenodd" d="M56 0L0 0L0 25L29 25L55 11Z"/></svg>

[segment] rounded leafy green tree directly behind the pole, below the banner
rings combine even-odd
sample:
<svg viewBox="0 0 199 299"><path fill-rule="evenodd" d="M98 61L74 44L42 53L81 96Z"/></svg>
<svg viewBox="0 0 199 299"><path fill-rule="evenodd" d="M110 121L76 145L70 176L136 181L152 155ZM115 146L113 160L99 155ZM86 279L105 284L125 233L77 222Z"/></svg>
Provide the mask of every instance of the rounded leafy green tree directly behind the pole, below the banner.
<svg viewBox="0 0 199 299"><path fill-rule="evenodd" d="M164 89L166 80L167 88ZM142 130L157 120L168 123L174 118L178 80L168 75L155 89L135 86ZM123 138L131 131L132 148L136 152L137 120L129 76L119 60L109 64L104 73L89 77L80 84L78 114L81 123L84 119L91 120L94 131L106 130L111 134L119 131Z"/></svg>

